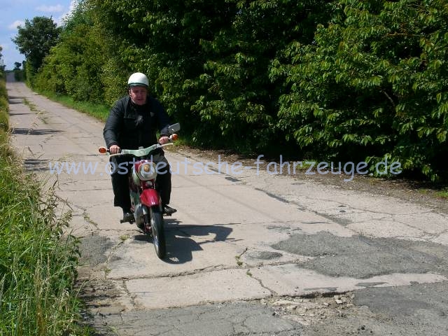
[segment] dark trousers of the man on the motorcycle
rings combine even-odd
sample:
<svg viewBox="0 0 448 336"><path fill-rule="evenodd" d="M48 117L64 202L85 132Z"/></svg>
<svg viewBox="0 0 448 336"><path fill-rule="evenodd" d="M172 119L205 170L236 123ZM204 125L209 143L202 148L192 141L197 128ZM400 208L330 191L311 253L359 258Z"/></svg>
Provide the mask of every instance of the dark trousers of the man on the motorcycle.
<svg viewBox="0 0 448 336"><path fill-rule="evenodd" d="M127 162L127 164L126 164ZM131 162L131 163L129 163ZM153 162L165 162L164 168L158 167L158 175L155 180L155 188L162 198L162 204L169 204L171 197L171 172L169 172L169 164L167 158L163 154L153 155ZM129 195L129 177L132 174L132 156L121 155L111 158L111 167L115 167L111 174L113 188L113 205L121 207L125 210L131 208L131 199ZM162 174L164 173L165 174Z"/></svg>

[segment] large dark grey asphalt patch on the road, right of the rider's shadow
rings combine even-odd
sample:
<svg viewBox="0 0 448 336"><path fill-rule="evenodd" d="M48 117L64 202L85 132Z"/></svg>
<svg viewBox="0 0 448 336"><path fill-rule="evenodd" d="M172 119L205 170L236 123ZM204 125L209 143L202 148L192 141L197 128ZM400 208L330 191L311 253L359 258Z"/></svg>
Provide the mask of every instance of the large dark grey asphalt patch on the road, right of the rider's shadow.
<svg viewBox="0 0 448 336"><path fill-rule="evenodd" d="M337 237L329 232L292 235L273 248L314 259L297 267L314 269L328 276L367 279L391 273L448 274L447 246L424 241L373 239L365 236Z"/></svg>

